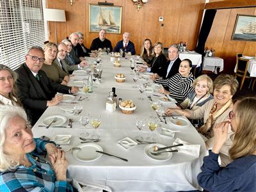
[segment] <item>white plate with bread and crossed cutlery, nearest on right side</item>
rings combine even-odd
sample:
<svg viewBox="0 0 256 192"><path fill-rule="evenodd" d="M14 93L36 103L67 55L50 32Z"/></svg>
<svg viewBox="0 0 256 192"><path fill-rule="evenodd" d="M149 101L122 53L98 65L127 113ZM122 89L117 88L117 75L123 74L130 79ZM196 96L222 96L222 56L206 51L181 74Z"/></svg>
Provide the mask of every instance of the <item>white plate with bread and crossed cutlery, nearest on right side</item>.
<svg viewBox="0 0 256 192"><path fill-rule="evenodd" d="M144 148L144 152L151 159L154 159L154 160L157 160L157 161L166 161L166 160L168 160L168 159L170 159L172 157L172 152L170 152L170 153L162 153L162 154L159 154L158 156L152 155L150 152L154 152L154 150L153 150L154 146L156 146L158 148L166 147L165 145L162 145L162 144L159 144L159 143L152 143L152 144L147 145ZM165 150L167 151L167 150L170 150L170 149L165 149ZM163 150L161 150L161 151L163 151Z"/></svg>

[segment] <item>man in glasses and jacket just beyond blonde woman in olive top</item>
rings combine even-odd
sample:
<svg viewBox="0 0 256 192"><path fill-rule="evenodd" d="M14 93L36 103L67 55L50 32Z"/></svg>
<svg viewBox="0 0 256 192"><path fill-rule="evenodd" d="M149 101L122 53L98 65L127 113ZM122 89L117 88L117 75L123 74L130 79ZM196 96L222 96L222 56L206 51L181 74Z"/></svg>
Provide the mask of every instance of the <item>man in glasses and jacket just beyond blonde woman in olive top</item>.
<svg viewBox="0 0 256 192"><path fill-rule="evenodd" d="M58 44L58 54L52 63L56 63L66 73L72 74L74 70L85 67L86 63L81 62L79 65L68 65L64 60L67 55L67 49L68 47L64 43Z"/></svg>

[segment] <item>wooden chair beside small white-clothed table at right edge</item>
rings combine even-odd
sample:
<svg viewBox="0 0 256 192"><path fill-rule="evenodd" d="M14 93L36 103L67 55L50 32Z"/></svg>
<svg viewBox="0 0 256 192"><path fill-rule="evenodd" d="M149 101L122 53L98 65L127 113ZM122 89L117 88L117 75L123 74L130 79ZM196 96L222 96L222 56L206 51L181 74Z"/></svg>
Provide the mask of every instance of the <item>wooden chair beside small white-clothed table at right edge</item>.
<svg viewBox="0 0 256 192"><path fill-rule="evenodd" d="M247 60L245 58L241 58L237 54L237 59L236 59L236 73L235 77L241 77L241 84L239 90L242 89L244 80L245 79L252 79L253 77L250 77L250 74L248 73L248 67L250 65L250 60ZM253 82L254 85L255 82Z"/></svg>

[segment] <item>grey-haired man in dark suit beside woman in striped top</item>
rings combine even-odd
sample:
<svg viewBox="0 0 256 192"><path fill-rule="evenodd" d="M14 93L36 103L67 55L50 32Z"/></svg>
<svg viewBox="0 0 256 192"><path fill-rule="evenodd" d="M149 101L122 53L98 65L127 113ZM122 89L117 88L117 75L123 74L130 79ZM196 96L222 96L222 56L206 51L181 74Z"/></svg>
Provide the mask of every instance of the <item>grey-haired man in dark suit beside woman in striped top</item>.
<svg viewBox="0 0 256 192"><path fill-rule="evenodd" d="M180 67L180 58L179 58L179 50L177 45L171 45L168 49L168 58L166 65L164 65L164 68L162 70L163 79L170 79L175 74L179 73L179 67ZM152 79L159 79L160 77L158 74L154 74L152 76Z"/></svg>

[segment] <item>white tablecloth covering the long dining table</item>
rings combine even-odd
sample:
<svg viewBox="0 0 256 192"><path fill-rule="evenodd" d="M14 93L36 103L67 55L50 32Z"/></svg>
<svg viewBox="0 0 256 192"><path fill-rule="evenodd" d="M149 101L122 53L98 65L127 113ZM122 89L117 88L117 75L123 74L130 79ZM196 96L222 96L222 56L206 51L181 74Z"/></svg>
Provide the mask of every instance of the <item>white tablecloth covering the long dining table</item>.
<svg viewBox="0 0 256 192"><path fill-rule="evenodd" d="M92 64L95 58L86 58L88 63ZM97 129L100 134L100 141L92 145L99 145L104 152L123 157L128 161L102 155L93 161L79 161L74 157L76 151L72 150L66 153L68 160L68 178L76 179L81 184L98 186L99 188L108 191L189 191L200 189L196 176L200 172L202 159L205 156L204 140L200 137L195 127L190 123L187 126L179 126L171 123L171 117L166 118L166 124L161 122L153 132L154 138L158 144L169 146L173 144L175 139L186 141L191 144L200 145L200 154L198 157L180 152L173 153L170 159L159 161L149 157L145 153L145 148L148 145L133 145L129 148L124 148L118 144L118 141L124 138L134 138L138 135L136 127L136 118L148 118L156 116L156 112L151 108L148 95L151 95L152 100L159 100L159 93L144 92L140 93L134 85L145 83L148 80L147 76L140 74L141 79L134 83L129 59L120 58L121 67L114 67L113 62L107 54L101 56L102 60L102 77L101 82L96 81L93 85L93 92L85 95L79 92L78 95L70 102L61 102L57 106L51 106L45 110L45 113L40 117L38 122L33 126L33 134L35 137L47 136L51 140L56 140L57 135L70 136L70 142L66 145L61 145L63 150L67 151L72 147L81 145L79 137L84 131L93 133L92 124L84 127L79 122L79 115L65 114L63 108L74 108L74 106L83 106L81 115L90 113L90 116L101 116L101 124ZM90 68L89 68L90 69ZM84 69L85 71L86 69ZM79 72L81 72L80 70ZM126 76L124 83L115 81L115 74L123 73ZM77 85L79 80L87 78L86 73L74 72L74 76L70 77L69 85ZM132 114L124 114L119 108L116 111L106 111L106 97L108 97L111 88L116 88L118 98L131 99L136 105L136 110ZM88 97L84 100L79 100L81 97ZM144 100L138 100L143 97ZM164 104L164 107L175 106L175 103ZM46 129L42 126L45 119L49 116L64 116L72 118L74 122L72 128L67 122L63 122L60 127L50 126ZM162 118L163 119L163 118ZM172 129L176 132L175 136L166 136L161 134L161 127ZM147 138L150 134L148 126L143 128L142 135ZM89 136L90 137L90 136ZM58 143L58 141L55 141ZM119 142L120 143L120 142Z"/></svg>

